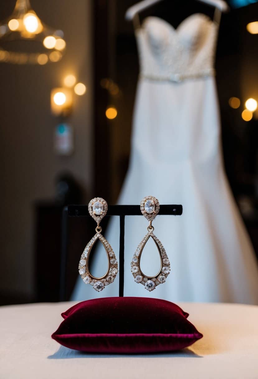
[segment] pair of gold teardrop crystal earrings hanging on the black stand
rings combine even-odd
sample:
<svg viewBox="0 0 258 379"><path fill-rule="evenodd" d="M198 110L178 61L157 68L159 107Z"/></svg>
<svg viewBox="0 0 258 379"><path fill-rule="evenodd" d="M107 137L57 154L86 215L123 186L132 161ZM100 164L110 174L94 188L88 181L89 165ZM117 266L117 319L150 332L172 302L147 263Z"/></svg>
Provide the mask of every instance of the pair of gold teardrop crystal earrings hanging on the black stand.
<svg viewBox="0 0 258 379"><path fill-rule="evenodd" d="M146 290L153 291L157 285L162 284L166 281L166 278L170 272L170 263L162 243L153 233L154 227L152 226L152 221L159 213L159 201L153 196L146 196L141 200L140 208L143 216L145 216L145 218L149 221L149 226L147 228L148 233L137 246L137 249L132 258L131 272L136 283L141 283L145 286ZM95 236L92 237L81 255L79 262L79 274L81 275L84 283L92 285L94 290L99 292L104 290L107 285L114 281L118 273L118 262L112 247L107 242L106 238L101 235L102 228L99 226L100 221L107 214L106 200L102 199L101 197L95 197L94 199L90 200L88 210L90 216L92 216L92 218L96 221L97 227ZM154 240L160 255L160 269L155 276L146 276L140 269L141 253L150 237ZM99 278L94 277L89 270L90 252L93 245L98 239L103 244L108 258L107 272L104 276Z"/></svg>

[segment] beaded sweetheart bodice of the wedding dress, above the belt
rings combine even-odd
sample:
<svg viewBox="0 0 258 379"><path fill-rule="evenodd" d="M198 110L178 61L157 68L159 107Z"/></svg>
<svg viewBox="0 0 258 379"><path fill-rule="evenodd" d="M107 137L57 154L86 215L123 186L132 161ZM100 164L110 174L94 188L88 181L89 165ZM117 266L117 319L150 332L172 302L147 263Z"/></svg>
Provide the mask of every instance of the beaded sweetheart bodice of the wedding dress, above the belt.
<svg viewBox="0 0 258 379"><path fill-rule="evenodd" d="M214 75L218 25L204 14L193 14L177 29L148 17L136 32L140 77L182 81Z"/></svg>

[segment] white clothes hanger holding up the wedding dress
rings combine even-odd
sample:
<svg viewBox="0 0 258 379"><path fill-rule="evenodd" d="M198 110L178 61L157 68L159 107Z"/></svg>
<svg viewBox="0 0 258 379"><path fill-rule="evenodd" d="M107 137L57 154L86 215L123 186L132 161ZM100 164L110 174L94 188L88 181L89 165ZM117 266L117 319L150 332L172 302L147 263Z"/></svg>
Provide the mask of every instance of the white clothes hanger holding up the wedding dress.
<svg viewBox="0 0 258 379"><path fill-rule="evenodd" d="M138 14L141 11L144 11L145 9L151 7L152 5L155 5L162 0L143 0L135 5L132 5L129 9L127 9L125 18L128 21L134 21L135 28L138 28L140 25ZM224 0L197 0L199 2L208 4L210 6L213 6L215 8L214 13L214 21L216 21L218 24L220 22L221 18L221 12L227 12L229 10L229 6Z"/></svg>

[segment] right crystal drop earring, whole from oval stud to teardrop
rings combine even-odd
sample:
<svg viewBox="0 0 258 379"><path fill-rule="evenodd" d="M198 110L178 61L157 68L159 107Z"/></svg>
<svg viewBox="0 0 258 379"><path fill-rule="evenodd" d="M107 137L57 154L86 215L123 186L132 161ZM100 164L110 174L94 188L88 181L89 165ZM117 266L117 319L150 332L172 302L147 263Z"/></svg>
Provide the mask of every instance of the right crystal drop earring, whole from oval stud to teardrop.
<svg viewBox="0 0 258 379"><path fill-rule="evenodd" d="M146 196L141 200L141 213L149 221L148 233L138 245L131 262L131 272L136 283L141 283L146 290L153 291L157 285L164 283L170 272L170 263L166 251L160 240L153 234L154 227L152 221L157 216L160 210L159 201L153 196ZM160 255L160 269L157 275L147 276L143 274L140 268L141 253L149 238L155 242Z"/></svg>

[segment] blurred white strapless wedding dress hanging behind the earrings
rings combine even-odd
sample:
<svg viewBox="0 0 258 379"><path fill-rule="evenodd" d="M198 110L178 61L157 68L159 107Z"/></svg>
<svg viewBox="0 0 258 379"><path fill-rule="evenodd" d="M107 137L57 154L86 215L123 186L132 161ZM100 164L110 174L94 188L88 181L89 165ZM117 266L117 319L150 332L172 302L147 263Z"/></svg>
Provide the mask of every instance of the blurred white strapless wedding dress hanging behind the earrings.
<svg viewBox="0 0 258 379"><path fill-rule="evenodd" d="M136 31L140 78L131 159L118 204L140 204L152 195L160 204L182 204L183 215L157 216L152 223L171 273L151 293L130 271L148 222L143 216L126 218L125 296L258 304L255 254L224 172L213 68L217 34L218 24L204 14L188 17L176 30L148 17ZM118 257L118 219L111 220L105 237ZM147 275L153 257L145 255ZM118 279L101 293L79 279L73 293L75 300L104 296L118 296Z"/></svg>

